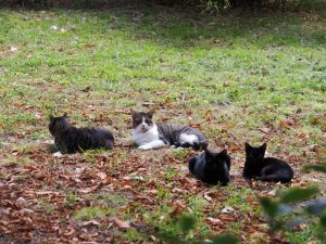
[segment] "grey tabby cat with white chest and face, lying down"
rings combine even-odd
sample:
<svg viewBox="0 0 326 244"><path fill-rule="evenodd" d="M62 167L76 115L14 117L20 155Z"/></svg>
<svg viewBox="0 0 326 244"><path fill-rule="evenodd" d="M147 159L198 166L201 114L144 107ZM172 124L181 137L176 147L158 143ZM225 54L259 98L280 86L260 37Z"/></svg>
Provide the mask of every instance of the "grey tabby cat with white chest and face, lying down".
<svg viewBox="0 0 326 244"><path fill-rule="evenodd" d="M140 150L160 149L168 145L176 147L205 149L208 139L202 132L188 127L171 124L155 124L152 120L153 112L135 112L133 115L133 138Z"/></svg>

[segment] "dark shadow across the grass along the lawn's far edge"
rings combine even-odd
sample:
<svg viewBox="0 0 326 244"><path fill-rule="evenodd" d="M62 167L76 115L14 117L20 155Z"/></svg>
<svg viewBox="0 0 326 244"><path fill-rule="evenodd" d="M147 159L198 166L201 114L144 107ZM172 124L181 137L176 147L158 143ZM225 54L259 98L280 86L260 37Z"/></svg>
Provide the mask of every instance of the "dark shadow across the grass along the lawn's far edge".
<svg viewBox="0 0 326 244"><path fill-rule="evenodd" d="M168 47L210 49L214 46L222 48L248 46L269 49L284 46L324 48L326 44L325 17L323 17L326 16L326 8L318 8L319 13L240 11L220 16L203 16L190 10L152 4L151 1L84 0L76 1L75 7L82 8L83 2L89 8L78 12L63 11L93 15L109 23L110 28L127 31L137 40L153 41ZM99 8L99 2L105 3ZM318 4L316 3L314 8ZM101 11L98 11L99 9Z"/></svg>

